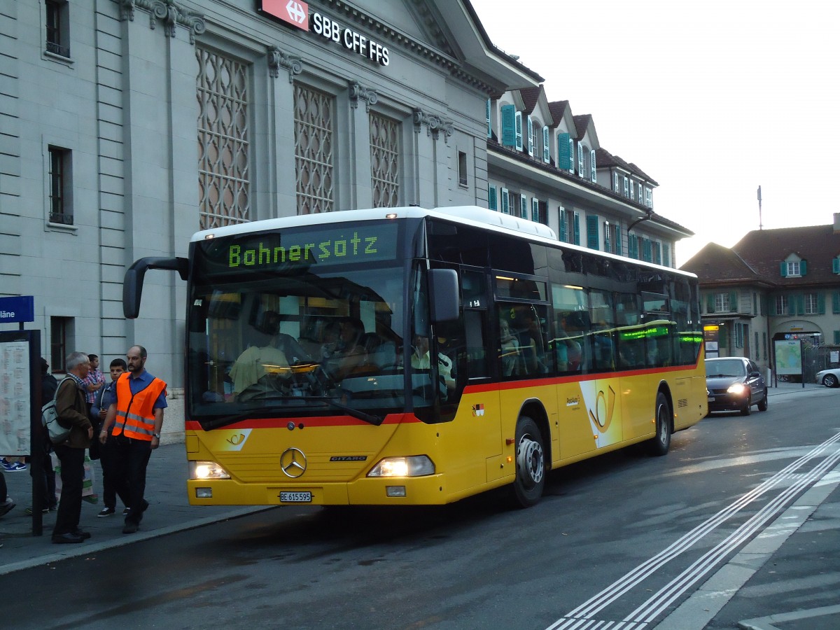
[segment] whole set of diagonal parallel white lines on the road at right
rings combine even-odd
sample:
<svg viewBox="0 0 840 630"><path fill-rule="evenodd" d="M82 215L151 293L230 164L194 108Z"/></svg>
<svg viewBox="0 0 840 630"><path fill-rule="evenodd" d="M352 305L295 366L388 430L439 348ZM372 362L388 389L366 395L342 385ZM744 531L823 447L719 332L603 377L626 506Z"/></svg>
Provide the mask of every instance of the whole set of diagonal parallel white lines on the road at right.
<svg viewBox="0 0 840 630"><path fill-rule="evenodd" d="M665 608L667 608L673 601L680 597L691 585L695 584L711 571L715 565L720 562L727 554L732 552L741 543L744 543L750 536L752 536L764 523L768 522L777 512L780 512L785 505L793 501L795 496L799 494L806 486L809 486L819 480L820 476L826 474L829 466L837 464L840 460L840 450L834 450L828 454L826 460L820 465L816 466L811 473L800 473L795 475L795 471L799 470L803 465L809 463L812 459L820 457L824 451L829 449L834 444L840 441L840 433L836 433L831 438L828 438L822 444L817 445L807 454L801 458L796 459L790 465L785 466L784 469L777 472L775 475L765 480L764 483L753 488L747 494L740 497L737 501L733 501L729 506L717 512L715 516L701 523L696 528L692 529L685 536L679 538L672 543L667 549L654 555L652 558L639 564L635 569L629 571L621 578L607 586L606 589L592 596L580 606L567 612L563 617L560 617L556 622L552 623L546 630L639 630L648 625L649 622L659 615ZM827 464L831 462L831 464ZM694 546L698 541L704 538L707 534L715 531L724 522L735 516L738 512L743 510L753 501L756 501L760 496L763 496L775 486L779 486L782 481L792 480L795 477L795 483L788 486L777 496L773 501L770 501L767 506L753 515L747 522L745 522L738 530L732 533L726 540L719 543L714 549L704 554L701 559L696 560L694 564L683 571L675 580L671 580L668 585L658 591L653 597L642 606L639 606L633 613L625 617L622 622L616 625L596 625L606 622L596 621L594 617L598 612L601 612L606 606L612 604L624 593L632 589L634 586L640 584L643 580L653 575L657 570L661 569L664 564L670 560L677 558L686 550ZM610 622L612 623L612 622Z"/></svg>

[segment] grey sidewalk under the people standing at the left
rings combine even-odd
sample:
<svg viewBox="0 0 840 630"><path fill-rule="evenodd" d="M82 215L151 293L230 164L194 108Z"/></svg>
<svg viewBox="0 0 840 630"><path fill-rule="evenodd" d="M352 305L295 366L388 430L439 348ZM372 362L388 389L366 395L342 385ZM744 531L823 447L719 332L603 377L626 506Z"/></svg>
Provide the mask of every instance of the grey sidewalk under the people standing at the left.
<svg viewBox="0 0 840 630"><path fill-rule="evenodd" d="M140 530L134 534L123 534L123 506L119 500L116 514L97 517L97 513L102 510L102 469L98 462L93 462L93 467L100 498L98 503L81 503L80 526L91 533L91 538L78 544L52 543L55 512L43 515L43 535L33 536L33 517L24 512L32 505L32 477L29 470L3 473L8 494L17 505L6 516L0 517L0 543L3 543L3 548L0 548L0 575L266 509L262 506L189 505L186 499L184 444L165 444L155 450L149 460L145 498L150 505L144 513Z"/></svg>

